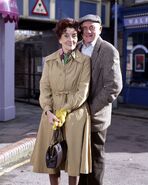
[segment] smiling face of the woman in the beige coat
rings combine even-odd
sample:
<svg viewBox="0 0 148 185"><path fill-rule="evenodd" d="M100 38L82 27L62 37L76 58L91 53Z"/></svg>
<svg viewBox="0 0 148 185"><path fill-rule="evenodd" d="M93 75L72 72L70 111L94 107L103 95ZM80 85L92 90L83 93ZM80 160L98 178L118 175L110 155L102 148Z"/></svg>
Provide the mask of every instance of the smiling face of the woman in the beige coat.
<svg viewBox="0 0 148 185"><path fill-rule="evenodd" d="M74 28L66 28L59 43L62 45L64 53L68 53L76 48L78 42L77 31Z"/></svg>

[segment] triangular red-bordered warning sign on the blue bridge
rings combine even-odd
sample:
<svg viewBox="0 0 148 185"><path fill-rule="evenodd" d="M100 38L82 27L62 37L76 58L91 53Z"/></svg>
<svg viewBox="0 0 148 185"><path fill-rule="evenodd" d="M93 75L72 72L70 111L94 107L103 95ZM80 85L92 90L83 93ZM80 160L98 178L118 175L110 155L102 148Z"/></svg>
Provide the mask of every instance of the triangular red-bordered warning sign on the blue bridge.
<svg viewBox="0 0 148 185"><path fill-rule="evenodd" d="M48 15L48 11L46 9L46 6L42 0L37 0L33 9L32 14L38 14L38 15Z"/></svg>

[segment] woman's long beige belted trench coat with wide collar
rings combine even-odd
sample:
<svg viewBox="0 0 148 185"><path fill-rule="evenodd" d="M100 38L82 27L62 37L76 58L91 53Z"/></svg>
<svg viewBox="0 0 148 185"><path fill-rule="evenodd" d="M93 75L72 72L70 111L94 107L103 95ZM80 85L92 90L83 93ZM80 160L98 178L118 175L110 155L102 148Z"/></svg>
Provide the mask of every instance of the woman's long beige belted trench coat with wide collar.
<svg viewBox="0 0 148 185"><path fill-rule="evenodd" d="M40 81L40 105L43 109L31 163L33 171L55 174L64 169L70 176L91 172L90 116L86 99L90 82L90 60L76 51L75 59L64 65L59 50L45 59ZM67 159L60 169L48 169L45 153L52 138L52 127L45 112L65 108L64 124L68 145Z"/></svg>

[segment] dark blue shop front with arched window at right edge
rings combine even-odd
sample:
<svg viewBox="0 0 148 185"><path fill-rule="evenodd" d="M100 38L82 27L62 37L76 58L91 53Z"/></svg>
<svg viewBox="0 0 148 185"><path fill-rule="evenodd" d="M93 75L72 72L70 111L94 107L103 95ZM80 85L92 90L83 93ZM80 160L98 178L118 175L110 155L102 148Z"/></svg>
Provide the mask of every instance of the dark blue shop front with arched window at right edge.
<svg viewBox="0 0 148 185"><path fill-rule="evenodd" d="M124 10L124 103L148 107L148 5Z"/></svg>

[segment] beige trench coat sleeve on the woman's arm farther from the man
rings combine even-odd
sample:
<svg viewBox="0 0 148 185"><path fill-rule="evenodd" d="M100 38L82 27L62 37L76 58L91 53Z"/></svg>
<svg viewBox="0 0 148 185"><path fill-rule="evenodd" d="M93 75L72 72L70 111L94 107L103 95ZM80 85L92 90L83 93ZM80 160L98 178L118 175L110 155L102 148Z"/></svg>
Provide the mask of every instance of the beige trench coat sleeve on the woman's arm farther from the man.
<svg viewBox="0 0 148 185"><path fill-rule="evenodd" d="M46 112L52 110L52 93L49 83L49 64L45 59L43 72L40 80L39 102L42 109Z"/></svg>

